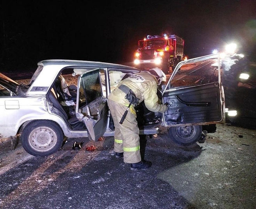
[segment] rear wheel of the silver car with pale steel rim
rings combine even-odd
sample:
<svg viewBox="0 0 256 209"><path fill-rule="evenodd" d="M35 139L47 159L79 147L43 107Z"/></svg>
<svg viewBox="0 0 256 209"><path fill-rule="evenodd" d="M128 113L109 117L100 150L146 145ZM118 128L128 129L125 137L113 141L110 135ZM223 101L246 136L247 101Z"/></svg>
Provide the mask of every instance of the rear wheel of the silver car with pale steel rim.
<svg viewBox="0 0 256 209"><path fill-rule="evenodd" d="M57 123L37 120L28 123L21 133L23 148L34 156L48 156L62 146L64 135Z"/></svg>

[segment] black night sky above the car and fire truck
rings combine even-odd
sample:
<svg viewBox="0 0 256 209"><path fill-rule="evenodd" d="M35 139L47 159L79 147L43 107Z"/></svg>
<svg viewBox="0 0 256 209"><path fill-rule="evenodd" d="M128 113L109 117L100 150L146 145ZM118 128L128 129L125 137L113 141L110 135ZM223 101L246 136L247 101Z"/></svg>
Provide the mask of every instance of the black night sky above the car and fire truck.
<svg viewBox="0 0 256 209"><path fill-rule="evenodd" d="M137 41L170 32L189 58L235 41L255 52L255 0L0 2L0 70L45 59L133 61Z"/></svg>

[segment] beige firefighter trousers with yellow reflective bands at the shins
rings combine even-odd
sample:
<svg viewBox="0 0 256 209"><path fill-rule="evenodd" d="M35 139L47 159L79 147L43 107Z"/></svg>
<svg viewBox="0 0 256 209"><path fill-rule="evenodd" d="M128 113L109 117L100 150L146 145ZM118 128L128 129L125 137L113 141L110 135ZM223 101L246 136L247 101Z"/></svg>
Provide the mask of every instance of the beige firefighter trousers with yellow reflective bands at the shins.
<svg viewBox="0 0 256 209"><path fill-rule="evenodd" d="M140 162L139 127L134 107L130 106L123 124L119 122L128 106L108 99L108 107L115 125L114 151L124 153L125 163Z"/></svg>

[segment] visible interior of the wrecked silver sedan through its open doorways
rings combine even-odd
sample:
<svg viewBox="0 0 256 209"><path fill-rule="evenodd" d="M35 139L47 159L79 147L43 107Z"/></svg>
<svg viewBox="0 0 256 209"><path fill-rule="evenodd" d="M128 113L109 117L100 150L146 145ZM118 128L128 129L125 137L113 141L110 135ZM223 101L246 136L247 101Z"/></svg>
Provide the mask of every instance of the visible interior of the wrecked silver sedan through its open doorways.
<svg viewBox="0 0 256 209"><path fill-rule="evenodd" d="M116 86L121 81L123 75L126 73L123 73L121 71L110 71L109 78L110 78L110 90L113 90L116 88ZM48 97L49 100L52 102L54 111L56 114L59 114L64 118L70 128L72 130L86 130L86 126L83 122L80 122L75 115L75 105L76 105L76 89L70 88L68 84L66 83L64 79L64 74L59 75L54 82L52 86L52 90L49 92ZM101 83L102 83L102 91L103 95L106 97L106 87L105 87L105 75L104 73L101 73L100 75ZM68 92L64 92L63 86L67 87ZM83 99L81 99L79 102L80 104L83 102ZM137 113L137 122L138 126L140 128L143 128L145 126L151 127L155 124L159 123L162 118L162 113L154 113L149 111L144 102L140 103L135 107L136 113ZM53 111L53 110L52 110ZM114 130L114 123L112 121L112 118L110 117L110 124L109 124L110 130Z"/></svg>

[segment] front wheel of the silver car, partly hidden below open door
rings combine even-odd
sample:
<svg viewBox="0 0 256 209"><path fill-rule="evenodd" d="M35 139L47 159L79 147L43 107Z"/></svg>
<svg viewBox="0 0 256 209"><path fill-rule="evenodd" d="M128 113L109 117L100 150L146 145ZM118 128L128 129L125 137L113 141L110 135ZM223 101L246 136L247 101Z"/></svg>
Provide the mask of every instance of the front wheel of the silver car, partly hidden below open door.
<svg viewBox="0 0 256 209"><path fill-rule="evenodd" d="M177 144L188 146L196 143L202 135L202 126L176 126L168 129L172 141Z"/></svg>

